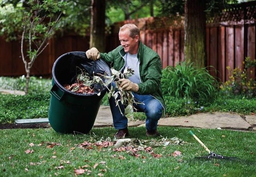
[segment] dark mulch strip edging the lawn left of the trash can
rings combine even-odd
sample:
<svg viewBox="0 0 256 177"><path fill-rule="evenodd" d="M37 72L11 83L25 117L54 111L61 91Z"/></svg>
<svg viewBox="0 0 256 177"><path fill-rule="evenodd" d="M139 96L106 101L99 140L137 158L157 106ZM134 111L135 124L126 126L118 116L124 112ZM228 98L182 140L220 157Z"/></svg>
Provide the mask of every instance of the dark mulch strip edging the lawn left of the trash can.
<svg viewBox="0 0 256 177"><path fill-rule="evenodd" d="M33 124L0 124L0 129L39 129L50 128L48 123L33 123Z"/></svg>

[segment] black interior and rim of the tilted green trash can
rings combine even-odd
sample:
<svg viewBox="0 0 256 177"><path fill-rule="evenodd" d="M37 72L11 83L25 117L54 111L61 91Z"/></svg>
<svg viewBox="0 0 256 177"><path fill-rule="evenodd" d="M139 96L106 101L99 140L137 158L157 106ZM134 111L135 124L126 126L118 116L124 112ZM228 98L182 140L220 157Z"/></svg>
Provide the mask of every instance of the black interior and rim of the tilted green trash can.
<svg viewBox="0 0 256 177"><path fill-rule="evenodd" d="M85 52L76 51L65 53L55 61L52 68L52 77L54 78L56 85L63 91L81 96L85 94L71 92L70 90L65 89L64 85L75 83L77 75L81 74L82 70L89 74L90 79L92 79L93 74L97 75L97 73L111 76L111 70L105 61L102 59L98 59L97 61L87 59ZM102 80L105 82L103 77ZM86 94L87 96L98 94L102 89L106 89L100 84L93 85L93 88L94 93L88 93Z"/></svg>

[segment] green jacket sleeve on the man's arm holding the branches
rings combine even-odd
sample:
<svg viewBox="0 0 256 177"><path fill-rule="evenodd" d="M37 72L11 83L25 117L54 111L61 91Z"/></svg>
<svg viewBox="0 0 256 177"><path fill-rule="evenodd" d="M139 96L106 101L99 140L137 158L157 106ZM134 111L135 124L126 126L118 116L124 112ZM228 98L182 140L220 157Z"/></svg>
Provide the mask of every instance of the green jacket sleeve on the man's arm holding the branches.
<svg viewBox="0 0 256 177"><path fill-rule="evenodd" d="M154 57L141 71L141 81L139 83L138 94L153 94L161 87L161 60L160 57Z"/></svg>

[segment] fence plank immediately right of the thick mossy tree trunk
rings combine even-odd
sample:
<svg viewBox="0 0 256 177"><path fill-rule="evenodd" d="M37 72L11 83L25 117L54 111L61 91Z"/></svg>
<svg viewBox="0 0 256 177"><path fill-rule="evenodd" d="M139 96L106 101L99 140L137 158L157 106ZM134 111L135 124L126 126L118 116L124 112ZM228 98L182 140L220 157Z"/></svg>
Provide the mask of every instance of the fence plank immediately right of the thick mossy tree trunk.
<svg viewBox="0 0 256 177"><path fill-rule="evenodd" d="M215 72L215 70L217 70L217 27L213 27L210 29L210 66L213 66L209 68L209 72L211 74L211 76L213 77L217 77L217 73Z"/></svg>

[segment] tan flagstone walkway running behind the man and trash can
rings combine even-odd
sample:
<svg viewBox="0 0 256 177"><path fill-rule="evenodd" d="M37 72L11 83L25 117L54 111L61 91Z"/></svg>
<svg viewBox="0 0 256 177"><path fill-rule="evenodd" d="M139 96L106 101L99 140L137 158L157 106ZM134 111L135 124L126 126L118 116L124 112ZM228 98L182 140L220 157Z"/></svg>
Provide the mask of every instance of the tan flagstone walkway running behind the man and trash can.
<svg viewBox="0 0 256 177"><path fill-rule="evenodd" d="M4 90L0 89L4 94L21 94L24 92L17 90ZM47 118L44 119L29 119L29 120L16 120L17 124L24 123L39 123L48 122ZM94 127L112 127L113 120L109 106L100 106ZM145 126L145 121L128 121L129 127ZM228 112L213 112L213 113L198 113L190 116L181 117L167 117L160 118L158 126L172 126L172 127L195 127L206 129L234 129L256 131L256 114L255 115L241 115Z"/></svg>

